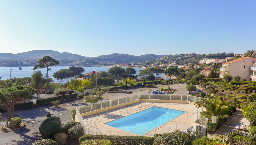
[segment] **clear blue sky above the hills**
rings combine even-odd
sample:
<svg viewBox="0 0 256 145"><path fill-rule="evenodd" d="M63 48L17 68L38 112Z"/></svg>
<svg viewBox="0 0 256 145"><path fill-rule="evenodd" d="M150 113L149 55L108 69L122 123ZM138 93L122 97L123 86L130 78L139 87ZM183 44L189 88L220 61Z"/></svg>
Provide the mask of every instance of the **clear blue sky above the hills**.
<svg viewBox="0 0 256 145"><path fill-rule="evenodd" d="M256 49L256 1L2 0L0 53L244 53Z"/></svg>

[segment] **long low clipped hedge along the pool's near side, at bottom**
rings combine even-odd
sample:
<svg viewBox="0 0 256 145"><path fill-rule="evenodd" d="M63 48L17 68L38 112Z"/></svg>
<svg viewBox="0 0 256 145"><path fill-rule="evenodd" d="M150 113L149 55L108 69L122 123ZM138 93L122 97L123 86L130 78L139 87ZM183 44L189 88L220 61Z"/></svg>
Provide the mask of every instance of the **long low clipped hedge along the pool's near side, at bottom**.
<svg viewBox="0 0 256 145"><path fill-rule="evenodd" d="M155 140L155 137L84 135L80 137L79 143L88 139L107 139L112 142L112 145L152 145Z"/></svg>

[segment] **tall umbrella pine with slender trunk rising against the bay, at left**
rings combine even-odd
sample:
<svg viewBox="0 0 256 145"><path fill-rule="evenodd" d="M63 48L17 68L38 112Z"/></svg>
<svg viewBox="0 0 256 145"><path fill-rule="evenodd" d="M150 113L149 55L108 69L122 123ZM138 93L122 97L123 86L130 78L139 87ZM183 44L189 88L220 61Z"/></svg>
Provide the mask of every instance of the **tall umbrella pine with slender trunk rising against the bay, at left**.
<svg viewBox="0 0 256 145"><path fill-rule="evenodd" d="M59 64L59 61L51 58L50 56L44 56L42 59L38 60L37 65L34 66L34 70L38 68L46 68L47 71L47 89L49 86L49 70L51 70L52 66L56 66Z"/></svg>

